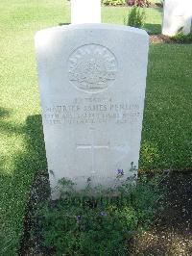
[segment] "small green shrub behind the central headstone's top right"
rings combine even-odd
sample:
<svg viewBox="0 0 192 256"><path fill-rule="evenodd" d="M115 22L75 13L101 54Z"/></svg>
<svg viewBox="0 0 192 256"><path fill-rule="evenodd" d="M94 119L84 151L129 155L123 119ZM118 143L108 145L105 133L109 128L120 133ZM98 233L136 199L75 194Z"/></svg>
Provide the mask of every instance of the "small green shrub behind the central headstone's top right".
<svg viewBox="0 0 192 256"><path fill-rule="evenodd" d="M133 6L128 15L128 26L141 28L144 25L145 11L137 6Z"/></svg>

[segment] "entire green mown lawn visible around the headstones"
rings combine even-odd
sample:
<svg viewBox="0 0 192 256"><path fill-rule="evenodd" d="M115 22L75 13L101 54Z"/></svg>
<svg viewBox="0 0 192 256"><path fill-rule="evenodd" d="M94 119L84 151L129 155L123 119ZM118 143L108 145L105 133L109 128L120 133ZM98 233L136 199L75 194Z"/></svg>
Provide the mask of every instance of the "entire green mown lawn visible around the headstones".
<svg viewBox="0 0 192 256"><path fill-rule="evenodd" d="M147 9L145 28L160 32L160 9ZM69 22L60 0L0 2L0 255L16 255L36 170L46 167L34 35ZM102 9L122 24L127 8ZM125 45L126 46L126 45ZM150 48L140 169L192 167L192 45Z"/></svg>

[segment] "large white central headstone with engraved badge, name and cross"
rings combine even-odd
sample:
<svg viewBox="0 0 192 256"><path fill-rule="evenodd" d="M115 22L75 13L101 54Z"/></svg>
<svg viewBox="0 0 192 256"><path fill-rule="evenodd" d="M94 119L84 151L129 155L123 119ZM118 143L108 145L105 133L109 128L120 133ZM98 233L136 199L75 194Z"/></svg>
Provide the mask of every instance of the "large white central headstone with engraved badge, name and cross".
<svg viewBox="0 0 192 256"><path fill-rule="evenodd" d="M87 180L110 187L122 172L122 180L136 176L131 166L138 166L148 40L143 30L109 24L36 34L52 188L63 177L83 189Z"/></svg>

